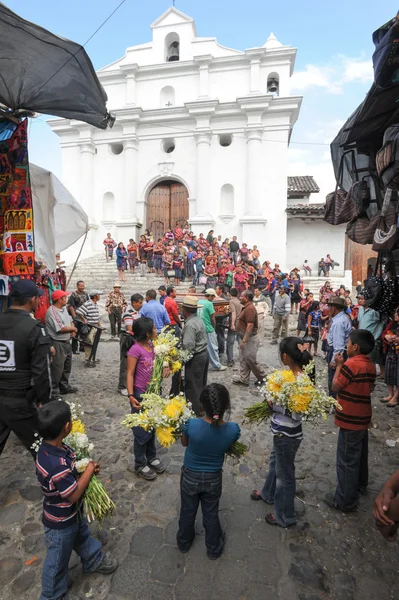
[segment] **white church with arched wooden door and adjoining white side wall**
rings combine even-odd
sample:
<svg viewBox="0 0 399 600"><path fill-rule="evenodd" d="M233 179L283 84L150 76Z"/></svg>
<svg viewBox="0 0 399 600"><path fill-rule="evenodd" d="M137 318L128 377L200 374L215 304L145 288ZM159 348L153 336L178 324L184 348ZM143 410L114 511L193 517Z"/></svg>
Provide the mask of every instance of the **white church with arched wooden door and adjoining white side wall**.
<svg viewBox="0 0 399 600"><path fill-rule="evenodd" d="M213 229L257 244L282 266L315 265L327 252L342 264L341 228L322 222L320 210L295 210L317 185L288 186L287 204L287 152L302 101L290 95L296 49L273 34L260 48L221 46L198 37L194 20L174 7L151 29L151 42L98 71L112 129L49 121L63 183L89 215L86 254L103 249L108 231L126 243L188 221L197 235Z"/></svg>

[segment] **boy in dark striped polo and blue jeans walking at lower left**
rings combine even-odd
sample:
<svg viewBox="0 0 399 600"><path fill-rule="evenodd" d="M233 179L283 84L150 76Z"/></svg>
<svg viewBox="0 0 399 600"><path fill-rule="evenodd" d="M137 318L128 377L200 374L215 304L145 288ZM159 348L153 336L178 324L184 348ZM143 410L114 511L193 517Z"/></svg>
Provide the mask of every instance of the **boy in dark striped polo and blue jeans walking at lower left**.
<svg viewBox="0 0 399 600"><path fill-rule="evenodd" d="M63 443L72 430L69 404L57 401L41 408L37 430L43 437L36 472L44 494L43 525L47 545L40 600L61 600L68 593L72 550L80 557L85 573L111 574L118 563L102 552L101 543L91 536L83 515L83 495L100 467L90 461L78 476L75 454Z"/></svg>

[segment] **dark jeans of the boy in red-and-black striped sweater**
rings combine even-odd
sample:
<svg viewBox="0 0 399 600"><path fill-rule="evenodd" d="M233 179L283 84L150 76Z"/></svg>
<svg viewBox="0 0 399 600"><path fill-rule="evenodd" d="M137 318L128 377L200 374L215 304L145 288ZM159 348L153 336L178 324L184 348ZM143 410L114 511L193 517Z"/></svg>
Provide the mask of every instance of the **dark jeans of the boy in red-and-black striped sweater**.
<svg viewBox="0 0 399 600"><path fill-rule="evenodd" d="M368 485L368 435L367 429L339 430L335 502L343 510L354 509L358 503L359 488Z"/></svg>

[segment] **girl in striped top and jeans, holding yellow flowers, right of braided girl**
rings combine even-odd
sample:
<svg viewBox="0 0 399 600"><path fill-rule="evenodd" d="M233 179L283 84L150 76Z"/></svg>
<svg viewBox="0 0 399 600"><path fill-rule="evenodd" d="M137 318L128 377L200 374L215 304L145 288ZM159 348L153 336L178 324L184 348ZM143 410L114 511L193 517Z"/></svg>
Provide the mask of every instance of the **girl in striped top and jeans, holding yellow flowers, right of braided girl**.
<svg viewBox="0 0 399 600"><path fill-rule="evenodd" d="M273 395L285 382L293 382L303 374L303 368L310 363L311 355L301 345L297 337L284 338L279 347L280 359L289 369L278 372L278 378L267 384ZM304 390L306 392L306 390ZM306 399L306 393L303 395ZM300 398L293 398L296 406ZM280 527L295 525L295 455L301 444L303 433L301 414L268 401L273 411L270 428L273 434L273 450L270 455L269 473L261 491L254 490L252 500L263 500L266 504L274 504L274 514L266 515L266 523ZM304 405L304 410L305 410Z"/></svg>

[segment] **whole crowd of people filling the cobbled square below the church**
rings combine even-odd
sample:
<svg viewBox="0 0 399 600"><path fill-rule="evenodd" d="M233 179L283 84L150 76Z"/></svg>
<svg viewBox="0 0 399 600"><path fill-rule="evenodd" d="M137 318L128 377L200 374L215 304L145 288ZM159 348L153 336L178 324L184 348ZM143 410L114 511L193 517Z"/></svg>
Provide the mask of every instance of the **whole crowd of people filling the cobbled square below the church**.
<svg viewBox="0 0 399 600"><path fill-rule="evenodd" d="M182 233L184 235L183 230ZM174 232L170 234L175 235ZM213 232L208 237L205 259L218 248ZM173 245L175 239L171 242ZM177 242L178 248L180 243ZM225 544L218 516L222 466L226 452L240 437L240 428L237 423L225 420L230 409L229 389L219 383L209 384L209 369L224 371L232 367L238 346L239 375L232 384L248 387L252 373L255 385L262 385L265 368L259 363L257 354L265 339L265 319L270 312L274 319L270 343L279 344L282 364L296 377L313 358L312 348L314 355L318 355L318 342L320 338L322 340L322 352L328 362L329 391L338 401L335 412L335 424L339 428L337 486L324 497L332 508L343 512L356 510L359 495L367 490L368 428L377 372L388 386L388 394L381 401L388 407L399 402L398 310L387 319L368 306L361 286L354 302L350 290L343 286L333 290L329 281L321 287L316 299L304 289L299 269L286 274L278 265L274 268L267 262L260 265L253 250L245 252L246 246L236 243L233 250L229 246L230 254L225 259L220 257L220 252L216 259L211 254L209 266L215 265L217 274L204 268L206 280L202 282L197 278L195 264L191 272L191 263L185 260L181 276L175 279L174 285L168 281L167 286L160 285L158 290L149 289L145 297L135 293L126 298L118 281L105 302L111 336L119 336L120 367L115 379L132 412L141 409L142 396L154 367L153 340L160 332L169 329L179 339L181 347L190 352L183 372L175 373L170 384L166 381L163 384L164 388L170 385L168 390L174 395L184 383L185 396L195 413L195 418L183 427L181 438L186 450L177 545L181 552L189 551L201 502L205 544L211 560L222 554ZM109 246L108 259L113 243ZM144 264L148 265L146 268L159 272L162 263L149 265L148 258L148 255L143 256ZM220 280L219 269L225 268L221 267L223 261L228 269L234 266L231 281ZM132 263L132 269L135 266ZM236 275L242 273L248 277L237 279ZM205 292L198 297L193 283L178 306L177 285L185 277L193 277L200 286L204 285ZM242 283L241 287L237 285L239 283ZM211 284L213 287L208 287ZM102 292L93 289L87 293L83 281L78 282L71 294L55 290L53 303L45 316L45 326L30 317L41 293L31 281L17 282L10 293L10 308L0 315L0 334L7 350L3 351L0 364L0 453L10 431L14 431L36 459L44 492L43 522L48 547L42 600L48 600L61 599L67 593L72 547L77 548L85 572L112 573L117 562L103 554L82 516L81 499L91 477L98 473L99 465L90 462L86 471L77 475L74 455L63 444L71 430L70 408L62 401L54 402L60 396L78 391L70 383L72 354L83 350L85 364L98 365L95 347L103 329L98 305ZM229 307L225 314L215 313L217 301L223 301ZM297 319L296 336L289 335L290 315ZM222 362L224 354L226 364ZM315 369L317 363L312 376ZM163 377L166 379L169 375L170 371L165 367ZM281 407L276 405L271 408L273 451L269 472L263 488L253 490L251 499L274 504L273 512L265 517L266 522L285 528L296 523L295 456L303 439L302 415L281 412ZM36 455L33 446L37 433L43 442ZM137 477L153 481L165 471L165 465L157 455L154 432L134 427L132 433L133 455L128 468ZM396 538L398 493L399 475L395 474L374 504L376 522L390 541ZM57 553L55 549L59 547L62 551Z"/></svg>

